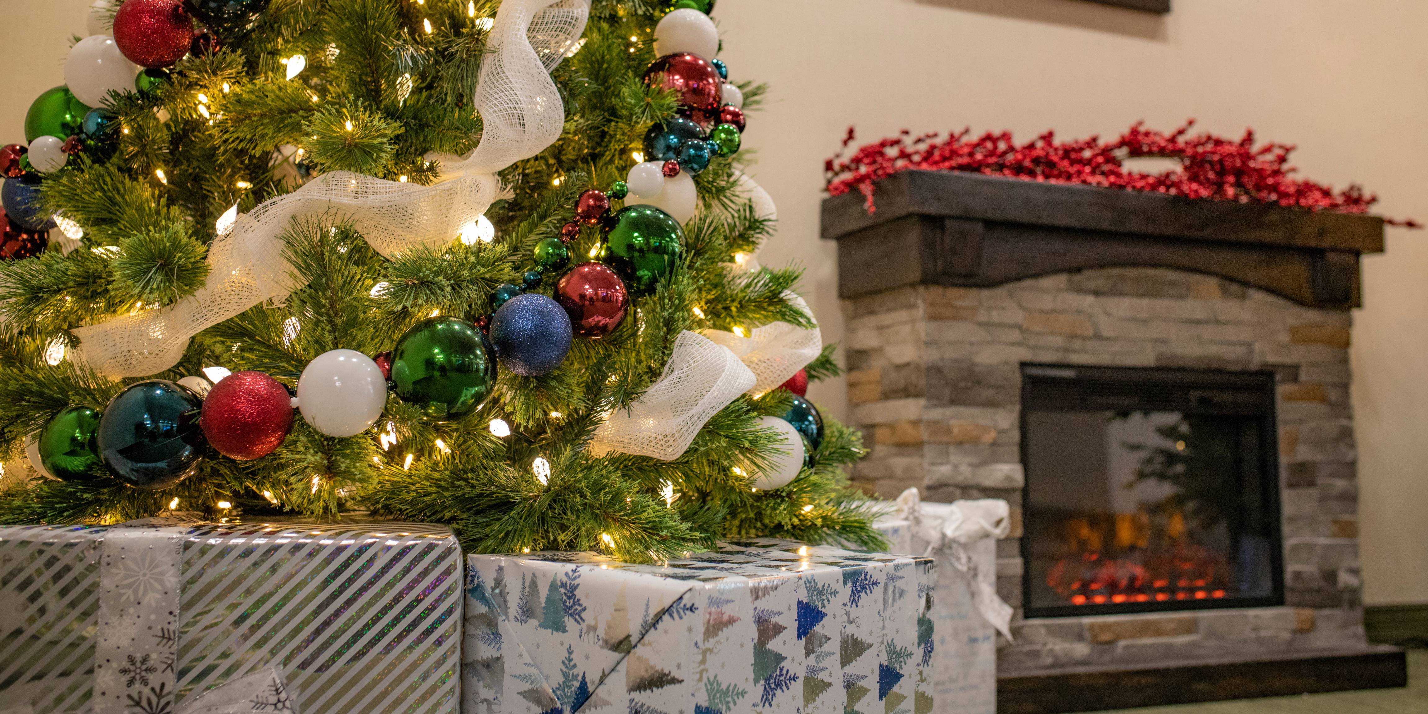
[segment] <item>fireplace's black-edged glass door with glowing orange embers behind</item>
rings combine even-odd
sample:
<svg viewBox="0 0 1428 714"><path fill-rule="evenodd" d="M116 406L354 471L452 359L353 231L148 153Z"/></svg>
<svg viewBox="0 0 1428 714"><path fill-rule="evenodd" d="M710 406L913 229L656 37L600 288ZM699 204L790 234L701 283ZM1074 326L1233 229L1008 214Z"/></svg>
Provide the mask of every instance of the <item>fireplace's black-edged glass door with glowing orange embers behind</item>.
<svg viewBox="0 0 1428 714"><path fill-rule="evenodd" d="M1282 604L1272 373L1022 381L1027 617Z"/></svg>

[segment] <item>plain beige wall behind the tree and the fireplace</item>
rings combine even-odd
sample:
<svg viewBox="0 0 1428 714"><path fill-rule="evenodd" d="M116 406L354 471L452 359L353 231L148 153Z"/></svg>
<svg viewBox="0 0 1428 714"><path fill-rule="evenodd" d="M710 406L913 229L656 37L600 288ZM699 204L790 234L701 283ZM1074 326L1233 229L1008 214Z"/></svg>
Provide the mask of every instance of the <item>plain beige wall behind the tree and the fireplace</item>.
<svg viewBox="0 0 1428 714"><path fill-rule="evenodd" d="M0 139L60 83L81 0L0 0ZM823 160L850 124L865 140L972 127L1112 136L1187 117L1297 143L1304 173L1362 181L1389 216L1428 220L1428 3L1175 0L1167 17L1081 0L720 0L735 79L773 84L747 143L783 217L765 264L808 267L805 291L838 340L835 248L818 241ZM1369 603L1428 601L1428 234L1389 230L1365 264L1354 390ZM814 398L845 413L841 386Z"/></svg>

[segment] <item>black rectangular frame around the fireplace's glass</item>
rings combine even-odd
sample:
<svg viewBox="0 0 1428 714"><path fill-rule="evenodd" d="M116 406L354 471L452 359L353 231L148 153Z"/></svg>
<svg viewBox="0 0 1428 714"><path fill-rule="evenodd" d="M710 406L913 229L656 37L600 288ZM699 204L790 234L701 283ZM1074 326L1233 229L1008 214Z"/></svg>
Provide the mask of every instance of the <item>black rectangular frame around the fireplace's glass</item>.
<svg viewBox="0 0 1428 714"><path fill-rule="evenodd" d="M1027 420L1032 410L1054 411L1058 407L1065 411L1085 410L1084 401L1057 403L1054 398L1037 397L1032 390L1035 383L1060 384L1068 383L1111 383L1138 388L1141 403L1137 408L1164 411L1191 411L1195 414L1238 414L1255 416L1262 420L1264 458L1262 497L1265 498L1264 516L1269 523L1269 560L1272 590L1267 597L1235 597L1224 600L1165 600L1158 603L1121 603L1121 604L1082 604L1082 605L1052 605L1032 607L1031 598L1031 538L1021 538L1021 587L1022 604L1027 618L1037 617L1091 617L1111 614L1135 613L1168 613L1187 610L1228 610L1244 607L1279 607L1285 603L1284 587L1284 510L1282 486L1279 468L1278 444L1278 390L1274 371L1220 371L1192 368L1160 368L1160 367L1087 367L1078 364L1021 364L1021 463L1027 464ZM1217 391L1218 390L1218 391ZM1220 398L1231 391L1240 394L1257 394L1255 401L1241 401L1237 398ZM1151 398L1148 398L1151 397ZM1115 408L1115 407L1107 407ZM1027 474L1022 486L1021 503L1024 520L1031 518L1031 477ZM1025 526L1024 526L1025 528Z"/></svg>

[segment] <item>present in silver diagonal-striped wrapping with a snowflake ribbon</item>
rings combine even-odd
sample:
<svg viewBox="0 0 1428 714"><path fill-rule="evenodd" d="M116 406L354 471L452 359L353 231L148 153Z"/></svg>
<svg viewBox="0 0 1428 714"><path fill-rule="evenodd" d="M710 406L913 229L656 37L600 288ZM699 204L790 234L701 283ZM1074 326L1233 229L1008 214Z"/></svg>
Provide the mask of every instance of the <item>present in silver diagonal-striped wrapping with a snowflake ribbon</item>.
<svg viewBox="0 0 1428 714"><path fill-rule="evenodd" d="M440 527L0 527L0 711L454 713L460 608Z"/></svg>

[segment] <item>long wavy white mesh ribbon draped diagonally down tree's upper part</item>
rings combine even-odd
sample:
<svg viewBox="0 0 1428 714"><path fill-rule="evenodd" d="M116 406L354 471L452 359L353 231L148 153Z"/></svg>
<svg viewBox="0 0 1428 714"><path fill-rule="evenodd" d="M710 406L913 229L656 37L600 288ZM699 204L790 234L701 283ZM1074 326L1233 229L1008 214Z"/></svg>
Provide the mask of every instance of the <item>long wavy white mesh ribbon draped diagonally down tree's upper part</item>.
<svg viewBox="0 0 1428 714"><path fill-rule="evenodd" d="M565 121L553 70L585 29L590 0L506 0L496 16L476 90L481 144L464 161L443 166L433 186L334 171L238 216L208 248L208 284L161 310L74 330L76 361L116 377L167 370L198 331L293 284L278 236L293 218L341 216L383 256L418 246L446 246L478 218L500 193L496 171L538 154Z"/></svg>

